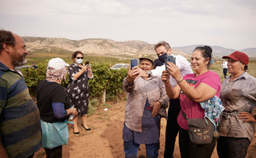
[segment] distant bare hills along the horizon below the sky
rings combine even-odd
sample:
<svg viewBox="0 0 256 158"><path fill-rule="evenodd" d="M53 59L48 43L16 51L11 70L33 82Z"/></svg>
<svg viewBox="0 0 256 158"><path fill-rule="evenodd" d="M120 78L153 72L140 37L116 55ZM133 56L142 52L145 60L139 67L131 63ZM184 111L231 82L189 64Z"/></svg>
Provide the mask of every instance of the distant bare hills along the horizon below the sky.
<svg viewBox="0 0 256 158"><path fill-rule="evenodd" d="M144 53L156 55L154 45L145 41L113 41L103 38L88 38L83 40L70 40L66 38L40 38L22 37L30 53L73 53L77 50L83 53L104 55L112 57L140 57ZM197 45L173 47L174 54L186 58L191 56ZM212 46L213 57L220 58L230 54L232 49L221 46ZM243 49L250 57L256 57L256 48Z"/></svg>

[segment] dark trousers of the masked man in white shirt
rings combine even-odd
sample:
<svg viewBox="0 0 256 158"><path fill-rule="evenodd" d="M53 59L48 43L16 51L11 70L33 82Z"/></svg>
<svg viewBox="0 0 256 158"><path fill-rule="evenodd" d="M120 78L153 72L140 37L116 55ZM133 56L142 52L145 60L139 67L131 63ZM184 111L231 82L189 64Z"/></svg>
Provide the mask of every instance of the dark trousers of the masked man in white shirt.
<svg viewBox="0 0 256 158"><path fill-rule="evenodd" d="M177 124L177 116L181 111L180 99L170 99L168 120L165 132L165 158L172 158L177 133L179 132L179 124Z"/></svg>

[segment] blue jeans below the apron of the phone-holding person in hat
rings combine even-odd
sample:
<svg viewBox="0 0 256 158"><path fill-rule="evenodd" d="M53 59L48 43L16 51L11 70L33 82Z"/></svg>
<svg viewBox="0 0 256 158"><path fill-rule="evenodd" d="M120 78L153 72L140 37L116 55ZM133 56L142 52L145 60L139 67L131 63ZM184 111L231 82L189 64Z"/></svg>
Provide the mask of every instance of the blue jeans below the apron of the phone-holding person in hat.
<svg viewBox="0 0 256 158"><path fill-rule="evenodd" d="M160 148L160 144L145 144L146 145L146 155L147 158L153 158L158 156L158 150ZM132 141L124 141L124 153L125 158L136 158L138 149L140 144L136 144L133 140Z"/></svg>

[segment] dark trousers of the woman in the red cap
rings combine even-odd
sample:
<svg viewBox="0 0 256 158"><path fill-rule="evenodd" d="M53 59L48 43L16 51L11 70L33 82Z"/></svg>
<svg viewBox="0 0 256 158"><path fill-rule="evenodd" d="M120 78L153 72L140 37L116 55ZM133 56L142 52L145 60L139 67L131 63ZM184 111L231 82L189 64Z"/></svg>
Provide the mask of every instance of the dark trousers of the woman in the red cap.
<svg viewBox="0 0 256 158"><path fill-rule="evenodd" d="M248 138L220 136L217 140L217 155L220 158L246 157L249 145L250 140L248 140Z"/></svg>

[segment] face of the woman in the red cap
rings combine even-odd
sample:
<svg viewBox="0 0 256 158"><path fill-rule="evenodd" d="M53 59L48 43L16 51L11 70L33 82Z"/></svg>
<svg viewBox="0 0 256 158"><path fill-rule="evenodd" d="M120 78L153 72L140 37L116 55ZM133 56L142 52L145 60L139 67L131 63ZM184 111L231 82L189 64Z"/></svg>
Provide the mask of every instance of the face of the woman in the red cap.
<svg viewBox="0 0 256 158"><path fill-rule="evenodd" d="M245 65L240 61L228 58L228 70L231 75L236 75L244 72Z"/></svg>

